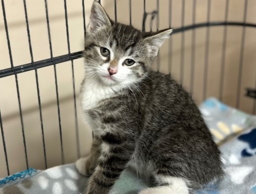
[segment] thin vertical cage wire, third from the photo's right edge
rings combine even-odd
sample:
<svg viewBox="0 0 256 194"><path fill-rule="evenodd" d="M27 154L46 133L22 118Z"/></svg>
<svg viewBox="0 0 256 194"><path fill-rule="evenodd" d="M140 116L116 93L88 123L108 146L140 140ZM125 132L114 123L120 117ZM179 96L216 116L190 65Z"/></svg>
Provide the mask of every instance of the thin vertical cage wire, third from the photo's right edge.
<svg viewBox="0 0 256 194"><path fill-rule="evenodd" d="M207 23L209 24L210 21L210 5L211 0L207 1L208 8L207 8ZM208 78L208 63L209 63L209 38L210 38L210 28L209 26L206 27L206 45L205 45L205 70L204 70L204 89L203 89L203 99L206 99L207 93L207 78Z"/></svg>

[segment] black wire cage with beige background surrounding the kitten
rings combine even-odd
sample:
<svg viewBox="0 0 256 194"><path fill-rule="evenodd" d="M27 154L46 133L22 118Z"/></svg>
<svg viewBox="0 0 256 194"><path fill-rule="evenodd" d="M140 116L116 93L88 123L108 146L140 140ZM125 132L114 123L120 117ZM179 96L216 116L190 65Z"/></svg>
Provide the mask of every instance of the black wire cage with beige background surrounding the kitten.
<svg viewBox="0 0 256 194"><path fill-rule="evenodd" d="M197 104L216 97L256 113L255 0L102 0L110 18L143 31L172 27L154 70ZM89 153L78 92L92 0L1 0L0 177ZM247 95L246 95L247 94Z"/></svg>

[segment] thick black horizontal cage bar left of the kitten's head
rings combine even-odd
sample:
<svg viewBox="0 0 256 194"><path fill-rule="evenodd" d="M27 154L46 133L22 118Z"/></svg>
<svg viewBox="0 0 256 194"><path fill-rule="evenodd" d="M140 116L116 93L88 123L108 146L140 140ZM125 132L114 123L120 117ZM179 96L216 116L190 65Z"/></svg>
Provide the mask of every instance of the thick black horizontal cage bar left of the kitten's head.
<svg viewBox="0 0 256 194"><path fill-rule="evenodd" d="M15 73L19 74L22 72L31 71L31 70L34 70L35 68L38 69L42 67L47 67L47 66L53 65L54 63L55 64L63 63L63 62L70 61L72 59L81 58L81 57L83 57L83 51L70 53L70 55L66 54L58 57L53 57L52 59L50 58L42 61L37 61L37 62L34 62L34 66L32 66L32 63L19 65L14 67L13 70L11 68L0 70L0 78L11 76L11 75L14 75Z"/></svg>

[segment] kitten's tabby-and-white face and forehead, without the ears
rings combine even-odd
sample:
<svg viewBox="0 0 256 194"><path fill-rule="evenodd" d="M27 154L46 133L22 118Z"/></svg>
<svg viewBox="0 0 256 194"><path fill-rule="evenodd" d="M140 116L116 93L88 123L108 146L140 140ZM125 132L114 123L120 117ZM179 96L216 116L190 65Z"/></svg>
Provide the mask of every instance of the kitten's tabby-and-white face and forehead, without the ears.
<svg viewBox="0 0 256 194"><path fill-rule="evenodd" d="M86 37L86 70L107 85L144 78L150 68L146 55L142 33L131 26L113 24Z"/></svg>

